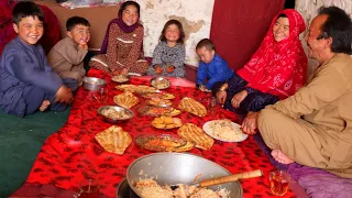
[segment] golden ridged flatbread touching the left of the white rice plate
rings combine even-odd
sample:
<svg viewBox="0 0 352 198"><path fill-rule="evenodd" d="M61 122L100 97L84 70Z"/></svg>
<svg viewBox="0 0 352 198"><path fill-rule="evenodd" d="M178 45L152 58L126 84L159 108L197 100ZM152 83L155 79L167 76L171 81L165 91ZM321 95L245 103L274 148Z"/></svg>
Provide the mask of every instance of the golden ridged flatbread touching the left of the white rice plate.
<svg viewBox="0 0 352 198"><path fill-rule="evenodd" d="M202 129L196 124L186 123L178 129L178 135L188 142L194 142L196 147L201 150L210 150L213 144L213 139L208 136Z"/></svg>

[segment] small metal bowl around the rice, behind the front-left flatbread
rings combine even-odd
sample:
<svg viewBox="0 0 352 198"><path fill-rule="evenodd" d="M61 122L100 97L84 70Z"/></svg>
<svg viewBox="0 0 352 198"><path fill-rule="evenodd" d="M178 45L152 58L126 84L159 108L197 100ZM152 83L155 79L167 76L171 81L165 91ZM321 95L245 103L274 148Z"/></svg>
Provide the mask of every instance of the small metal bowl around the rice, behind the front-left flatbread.
<svg viewBox="0 0 352 198"><path fill-rule="evenodd" d="M123 118L113 118L112 116L108 116L108 114L107 114L107 111L108 111L108 110L113 110L113 111L116 111L118 114L124 113L125 117L123 117ZM99 113L100 116L102 116L108 122L125 121L125 120L130 120L130 119L132 119L132 118L134 117L133 111L131 111L130 109L120 107L120 106L103 106L103 107L100 107L100 108L98 109L98 113Z"/></svg>

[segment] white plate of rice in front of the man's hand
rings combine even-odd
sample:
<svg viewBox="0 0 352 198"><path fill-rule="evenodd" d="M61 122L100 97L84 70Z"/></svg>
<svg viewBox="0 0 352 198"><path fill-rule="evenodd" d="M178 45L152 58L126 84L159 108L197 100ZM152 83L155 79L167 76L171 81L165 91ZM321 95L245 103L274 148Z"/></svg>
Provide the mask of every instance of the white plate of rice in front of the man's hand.
<svg viewBox="0 0 352 198"><path fill-rule="evenodd" d="M208 121L202 129L208 135L223 142L242 142L249 136L242 132L240 124L227 119Z"/></svg>

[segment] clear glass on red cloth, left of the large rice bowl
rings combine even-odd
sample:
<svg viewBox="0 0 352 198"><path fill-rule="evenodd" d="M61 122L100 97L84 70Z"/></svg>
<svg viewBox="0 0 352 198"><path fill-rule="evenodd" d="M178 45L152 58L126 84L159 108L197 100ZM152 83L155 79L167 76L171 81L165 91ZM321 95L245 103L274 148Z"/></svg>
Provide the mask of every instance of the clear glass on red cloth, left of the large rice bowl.
<svg viewBox="0 0 352 198"><path fill-rule="evenodd" d="M96 179L85 179L79 183L79 193L75 198L98 198L100 185Z"/></svg>

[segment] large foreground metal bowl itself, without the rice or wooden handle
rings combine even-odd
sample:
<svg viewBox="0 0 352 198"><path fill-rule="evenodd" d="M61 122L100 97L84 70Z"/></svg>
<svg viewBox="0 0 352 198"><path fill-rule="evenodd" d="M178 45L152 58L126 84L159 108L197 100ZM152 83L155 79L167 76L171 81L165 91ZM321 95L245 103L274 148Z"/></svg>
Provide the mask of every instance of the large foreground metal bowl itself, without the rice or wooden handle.
<svg viewBox="0 0 352 198"><path fill-rule="evenodd" d="M197 155L187 153L154 153L132 162L128 168L127 179L132 190L139 195L134 186L140 179L154 177L157 178L156 183L158 185L190 185L199 174L201 176L197 177L197 182L231 175L229 170L220 165ZM239 182L208 188L212 190L226 188L226 190L230 191L231 198L243 197L243 189Z"/></svg>

